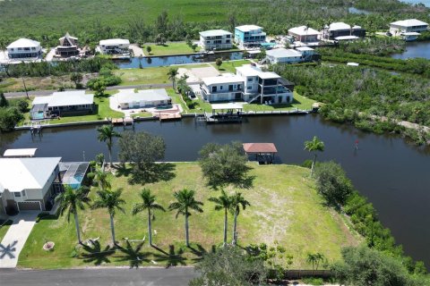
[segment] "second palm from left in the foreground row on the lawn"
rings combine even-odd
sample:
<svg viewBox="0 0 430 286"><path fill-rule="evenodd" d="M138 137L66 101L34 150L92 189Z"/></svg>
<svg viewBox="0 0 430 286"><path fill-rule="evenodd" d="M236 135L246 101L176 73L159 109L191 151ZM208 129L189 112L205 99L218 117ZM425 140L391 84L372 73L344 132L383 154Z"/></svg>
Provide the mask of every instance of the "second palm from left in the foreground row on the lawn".
<svg viewBox="0 0 430 286"><path fill-rule="evenodd" d="M94 201L94 204L92 205L93 208L107 208L107 212L110 216L110 231L112 233L112 242L114 243L114 245L116 245L114 226L114 217L116 214L116 210L120 210L124 213L124 208L121 206L125 204L125 200L121 198L122 192L122 189L99 189L97 191L99 198Z"/></svg>

